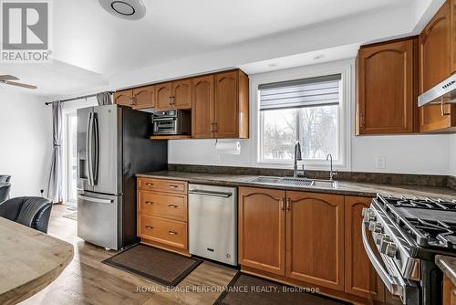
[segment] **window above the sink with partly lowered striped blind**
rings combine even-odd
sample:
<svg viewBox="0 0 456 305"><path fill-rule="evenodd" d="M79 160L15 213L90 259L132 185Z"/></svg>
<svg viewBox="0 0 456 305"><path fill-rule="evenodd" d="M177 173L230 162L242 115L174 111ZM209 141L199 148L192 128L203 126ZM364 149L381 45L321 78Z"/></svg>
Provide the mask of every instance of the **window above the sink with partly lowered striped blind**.
<svg viewBox="0 0 456 305"><path fill-rule="evenodd" d="M306 161L341 161L340 87L340 74L260 85L259 161L291 163L296 141Z"/></svg>

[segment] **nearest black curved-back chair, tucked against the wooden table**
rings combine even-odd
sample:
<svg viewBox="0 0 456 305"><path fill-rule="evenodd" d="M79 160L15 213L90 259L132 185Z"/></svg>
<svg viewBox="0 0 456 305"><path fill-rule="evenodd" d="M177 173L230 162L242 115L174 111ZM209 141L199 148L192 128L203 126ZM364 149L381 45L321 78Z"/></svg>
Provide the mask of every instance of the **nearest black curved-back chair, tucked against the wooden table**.
<svg viewBox="0 0 456 305"><path fill-rule="evenodd" d="M52 201L43 197L16 197L0 204L0 216L47 233Z"/></svg>

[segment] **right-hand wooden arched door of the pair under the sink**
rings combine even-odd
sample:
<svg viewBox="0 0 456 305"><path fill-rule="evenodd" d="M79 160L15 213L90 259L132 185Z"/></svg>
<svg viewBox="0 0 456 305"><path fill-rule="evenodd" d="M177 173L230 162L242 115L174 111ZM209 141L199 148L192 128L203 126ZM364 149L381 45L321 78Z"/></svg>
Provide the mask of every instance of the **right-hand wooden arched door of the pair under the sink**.
<svg viewBox="0 0 456 305"><path fill-rule="evenodd" d="M286 191L286 277L344 290L344 196Z"/></svg>

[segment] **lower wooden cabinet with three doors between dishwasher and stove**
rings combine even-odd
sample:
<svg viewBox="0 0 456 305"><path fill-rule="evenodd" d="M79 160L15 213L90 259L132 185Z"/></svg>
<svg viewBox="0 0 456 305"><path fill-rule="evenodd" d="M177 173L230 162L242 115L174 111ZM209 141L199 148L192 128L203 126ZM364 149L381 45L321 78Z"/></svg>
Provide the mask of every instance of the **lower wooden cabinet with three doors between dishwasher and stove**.
<svg viewBox="0 0 456 305"><path fill-rule="evenodd" d="M246 272L340 299L383 302L361 240L371 198L239 188L239 263ZM332 292L331 292L332 291Z"/></svg>

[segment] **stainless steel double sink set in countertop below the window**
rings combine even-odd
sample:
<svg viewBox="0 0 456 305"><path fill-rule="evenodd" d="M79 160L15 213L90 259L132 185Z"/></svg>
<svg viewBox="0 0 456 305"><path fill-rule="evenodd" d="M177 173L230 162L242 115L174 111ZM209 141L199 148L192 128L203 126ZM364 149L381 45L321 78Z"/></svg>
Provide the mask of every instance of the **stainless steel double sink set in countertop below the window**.
<svg viewBox="0 0 456 305"><path fill-rule="evenodd" d="M252 184L274 184L295 187L337 188L337 181L294 178L294 177L255 177L249 181Z"/></svg>

